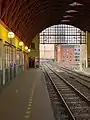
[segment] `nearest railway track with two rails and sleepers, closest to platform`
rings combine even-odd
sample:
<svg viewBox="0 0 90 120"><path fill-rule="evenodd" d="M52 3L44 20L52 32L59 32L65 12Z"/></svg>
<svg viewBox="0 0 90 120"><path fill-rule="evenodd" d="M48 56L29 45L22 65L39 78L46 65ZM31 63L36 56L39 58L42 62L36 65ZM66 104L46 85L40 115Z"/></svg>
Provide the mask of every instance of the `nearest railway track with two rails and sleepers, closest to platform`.
<svg viewBox="0 0 90 120"><path fill-rule="evenodd" d="M68 83L68 81L60 77L50 66L44 65L44 68L72 120L90 120L90 100Z"/></svg>

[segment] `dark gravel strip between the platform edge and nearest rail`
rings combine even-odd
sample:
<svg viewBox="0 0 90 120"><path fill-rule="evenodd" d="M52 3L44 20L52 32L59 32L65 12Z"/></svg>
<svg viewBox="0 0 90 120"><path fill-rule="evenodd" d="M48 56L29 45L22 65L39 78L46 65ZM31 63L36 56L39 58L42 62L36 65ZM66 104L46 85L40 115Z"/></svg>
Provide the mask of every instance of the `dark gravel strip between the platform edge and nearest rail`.
<svg viewBox="0 0 90 120"><path fill-rule="evenodd" d="M53 85L51 78L48 76L45 70L43 71L55 120L75 120L72 114L70 114L66 108L63 100L60 97L60 93Z"/></svg>

